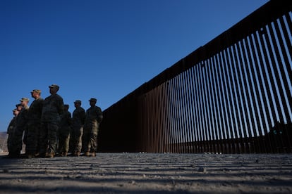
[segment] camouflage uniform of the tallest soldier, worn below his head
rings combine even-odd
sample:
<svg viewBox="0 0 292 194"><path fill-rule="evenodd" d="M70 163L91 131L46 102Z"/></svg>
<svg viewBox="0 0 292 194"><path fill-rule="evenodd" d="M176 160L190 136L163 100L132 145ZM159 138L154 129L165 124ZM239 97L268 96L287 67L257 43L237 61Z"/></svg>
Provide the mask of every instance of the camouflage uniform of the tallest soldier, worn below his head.
<svg viewBox="0 0 292 194"><path fill-rule="evenodd" d="M42 107L41 128L39 132L39 155L56 153L57 132L63 113L63 98L52 94L44 99Z"/></svg>

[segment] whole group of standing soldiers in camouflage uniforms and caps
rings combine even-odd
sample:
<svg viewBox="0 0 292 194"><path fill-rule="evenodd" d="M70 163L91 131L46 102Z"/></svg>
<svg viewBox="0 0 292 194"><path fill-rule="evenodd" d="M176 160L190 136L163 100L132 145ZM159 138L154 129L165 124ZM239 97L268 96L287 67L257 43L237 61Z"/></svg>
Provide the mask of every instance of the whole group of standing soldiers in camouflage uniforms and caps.
<svg viewBox="0 0 292 194"><path fill-rule="evenodd" d="M13 110L13 119L8 129L8 157L20 157L25 143L25 157L96 156L97 134L102 122L102 110L96 98L90 98L90 108L81 107L81 101L75 101L72 117L69 105L63 104L63 98L57 94L59 86L49 86L50 96L41 98L41 91L32 90L35 100L28 106L29 99L21 98L20 104Z"/></svg>

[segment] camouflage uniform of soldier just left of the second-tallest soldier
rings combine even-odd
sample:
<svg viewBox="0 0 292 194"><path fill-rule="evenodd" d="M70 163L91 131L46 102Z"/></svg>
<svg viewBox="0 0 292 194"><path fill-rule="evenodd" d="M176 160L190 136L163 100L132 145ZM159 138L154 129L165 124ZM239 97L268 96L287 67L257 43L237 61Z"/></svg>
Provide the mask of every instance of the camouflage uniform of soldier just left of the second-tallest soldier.
<svg viewBox="0 0 292 194"><path fill-rule="evenodd" d="M20 110L18 116L16 117L16 127L13 127L13 136L11 139L11 152L9 155L19 157L20 152L23 149L23 143L26 143L26 133L28 127L28 109L29 106L25 105L23 109ZM24 138L23 138L24 133Z"/></svg>

